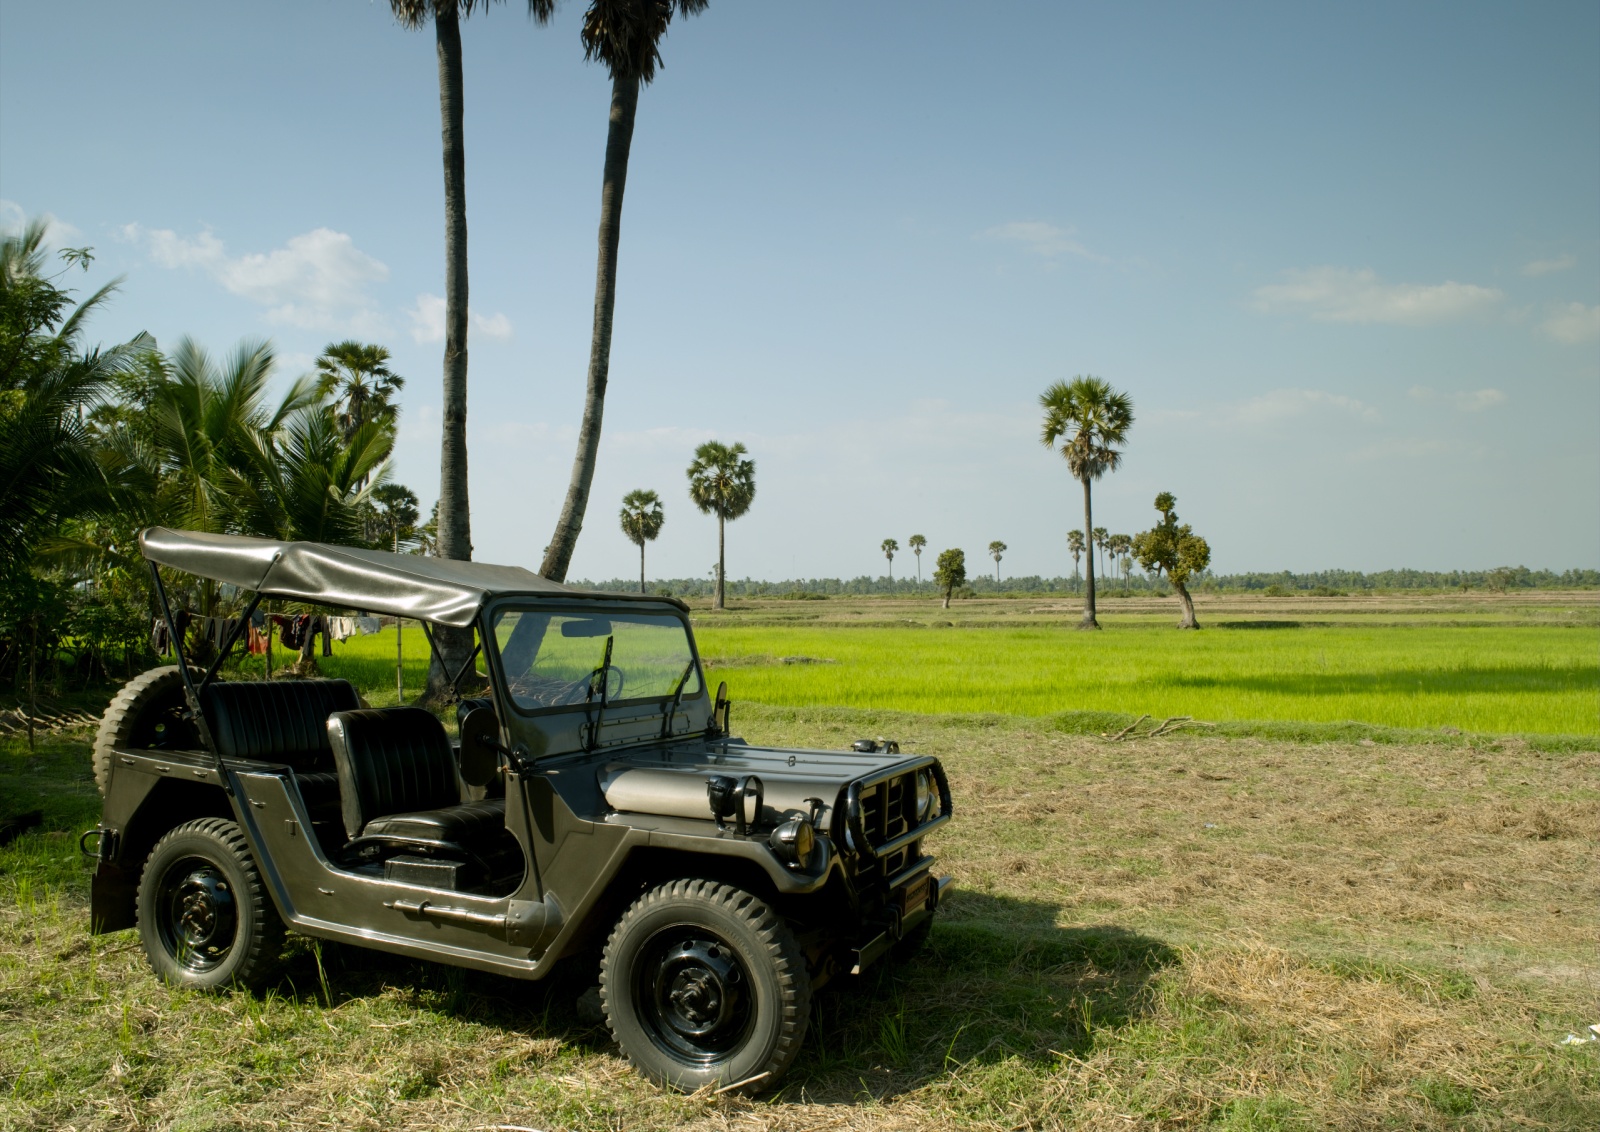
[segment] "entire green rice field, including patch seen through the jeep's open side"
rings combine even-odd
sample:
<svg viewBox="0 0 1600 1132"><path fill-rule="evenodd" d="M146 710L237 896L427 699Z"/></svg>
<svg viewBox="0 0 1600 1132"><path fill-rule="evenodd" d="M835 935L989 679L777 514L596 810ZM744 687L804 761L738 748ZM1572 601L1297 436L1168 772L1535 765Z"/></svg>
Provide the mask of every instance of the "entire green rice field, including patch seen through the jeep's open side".
<svg viewBox="0 0 1600 1132"><path fill-rule="evenodd" d="M1077 608L965 601L741 601L694 609L712 683L736 702L917 713L1187 715L1206 721L1357 721L1488 734L1600 734L1595 595L1470 600L1202 600L1198 633L1173 603ZM406 632L408 696L427 644ZM336 646L330 675L394 686L394 632ZM387 673L387 675L384 675Z"/></svg>

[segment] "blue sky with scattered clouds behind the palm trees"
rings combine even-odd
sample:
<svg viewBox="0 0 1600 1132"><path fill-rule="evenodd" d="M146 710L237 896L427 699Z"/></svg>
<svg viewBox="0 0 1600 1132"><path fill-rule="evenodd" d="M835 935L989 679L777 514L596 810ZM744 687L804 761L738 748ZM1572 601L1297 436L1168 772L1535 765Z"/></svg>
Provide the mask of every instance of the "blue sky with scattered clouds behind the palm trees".
<svg viewBox="0 0 1600 1132"><path fill-rule="evenodd" d="M464 27L475 556L536 564L566 486L610 83L568 2ZM683 468L757 459L742 577L990 539L1070 572L1037 397L1134 400L1096 523L1157 491L1221 571L1600 566L1600 8L728 3L642 94L606 430L574 577L704 574ZM330 341L406 376L438 481L430 32L386 3L0 0L0 222L125 275L106 341ZM896 561L910 569L909 556Z"/></svg>

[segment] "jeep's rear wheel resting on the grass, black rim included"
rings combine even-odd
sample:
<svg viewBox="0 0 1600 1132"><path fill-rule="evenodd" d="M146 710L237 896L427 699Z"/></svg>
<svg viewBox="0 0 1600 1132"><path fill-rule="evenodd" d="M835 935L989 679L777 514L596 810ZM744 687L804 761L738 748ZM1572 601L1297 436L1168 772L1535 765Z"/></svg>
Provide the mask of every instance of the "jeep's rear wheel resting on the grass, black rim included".
<svg viewBox="0 0 1600 1132"><path fill-rule="evenodd" d="M187 822L155 843L139 878L139 942L162 982L259 988L283 951L283 921L238 825Z"/></svg>

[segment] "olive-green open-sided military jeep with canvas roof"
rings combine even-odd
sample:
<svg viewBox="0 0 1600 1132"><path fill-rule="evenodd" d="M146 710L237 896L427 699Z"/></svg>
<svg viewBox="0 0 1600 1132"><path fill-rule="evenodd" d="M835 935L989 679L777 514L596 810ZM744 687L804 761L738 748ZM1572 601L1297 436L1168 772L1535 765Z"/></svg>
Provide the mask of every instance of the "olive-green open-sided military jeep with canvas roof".
<svg viewBox="0 0 1600 1132"><path fill-rule="evenodd" d="M814 990L926 939L949 884L925 851L950 820L938 759L731 735L682 601L310 542L139 545L178 656L106 711L85 846L93 931L138 927L168 983L259 987L285 931L515 979L598 953L638 1070L762 1092ZM253 595L210 665L162 566ZM440 664L470 643L446 665L474 684L456 737L342 680L218 680L264 598L414 619Z"/></svg>

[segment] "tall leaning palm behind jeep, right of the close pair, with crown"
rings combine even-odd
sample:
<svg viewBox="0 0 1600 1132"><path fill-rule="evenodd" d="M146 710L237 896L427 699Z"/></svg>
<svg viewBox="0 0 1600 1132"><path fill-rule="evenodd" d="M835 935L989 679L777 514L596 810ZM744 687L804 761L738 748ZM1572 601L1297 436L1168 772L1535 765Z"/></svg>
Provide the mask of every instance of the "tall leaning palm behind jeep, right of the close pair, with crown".
<svg viewBox="0 0 1600 1132"><path fill-rule="evenodd" d="M584 416L578 425L578 452L566 499L555 520L555 534L539 572L563 582L578 547L600 452L600 421L611 373L611 312L616 307L618 245L622 237L622 190L627 187L627 155L634 144L638 88L650 85L661 62L661 38L674 14L694 16L707 0L590 0L584 13L584 58L598 59L611 72L611 115L600 179L600 253L595 264L595 315L589 337L589 382Z"/></svg>

